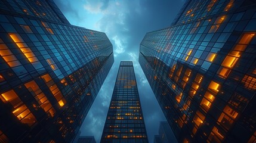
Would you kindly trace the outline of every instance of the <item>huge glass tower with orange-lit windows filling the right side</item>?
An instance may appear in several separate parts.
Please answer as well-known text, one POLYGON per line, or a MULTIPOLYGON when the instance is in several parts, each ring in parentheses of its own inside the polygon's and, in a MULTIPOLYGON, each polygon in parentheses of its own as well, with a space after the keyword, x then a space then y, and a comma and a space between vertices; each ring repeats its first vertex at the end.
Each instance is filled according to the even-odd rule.
POLYGON ((255 142, 256 2, 190 0, 139 63, 178 142, 255 142))

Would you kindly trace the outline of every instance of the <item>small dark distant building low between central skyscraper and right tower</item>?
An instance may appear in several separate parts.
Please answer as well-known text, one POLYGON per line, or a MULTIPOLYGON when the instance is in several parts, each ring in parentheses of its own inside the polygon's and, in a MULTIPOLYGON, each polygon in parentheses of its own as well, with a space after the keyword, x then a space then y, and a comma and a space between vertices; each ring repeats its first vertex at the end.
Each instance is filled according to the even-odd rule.
POLYGON ((162 121, 159 124, 159 135, 155 135, 154 142, 155 143, 177 143, 177 139, 175 138, 172 129, 170 128, 168 122, 162 121))

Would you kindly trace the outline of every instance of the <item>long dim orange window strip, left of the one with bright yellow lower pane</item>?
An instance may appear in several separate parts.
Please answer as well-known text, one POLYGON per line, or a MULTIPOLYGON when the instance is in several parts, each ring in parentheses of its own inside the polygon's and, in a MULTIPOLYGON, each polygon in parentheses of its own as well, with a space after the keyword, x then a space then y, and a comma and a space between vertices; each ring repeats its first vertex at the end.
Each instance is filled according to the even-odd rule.
POLYGON ((51 103, 48 101, 47 97, 45 97, 44 93, 38 87, 36 82, 32 80, 26 83, 25 86, 27 89, 29 89, 35 100, 38 101, 38 104, 41 106, 41 108, 43 108, 46 113, 49 113, 51 117, 53 117, 55 110, 51 103))

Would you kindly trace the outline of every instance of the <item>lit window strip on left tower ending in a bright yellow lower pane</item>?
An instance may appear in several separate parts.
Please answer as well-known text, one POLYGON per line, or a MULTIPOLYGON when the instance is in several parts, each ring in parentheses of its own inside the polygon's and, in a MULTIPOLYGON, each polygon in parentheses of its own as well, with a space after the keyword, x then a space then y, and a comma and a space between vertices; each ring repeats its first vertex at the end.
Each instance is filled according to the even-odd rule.
POLYGON ((58 89, 57 85, 55 85, 54 81, 51 79, 50 75, 45 74, 44 76, 41 76, 41 77, 42 79, 44 79, 51 93, 53 94, 55 99, 58 101, 58 104, 60 105, 60 107, 63 107, 63 105, 66 104, 66 100, 61 94, 60 89, 58 89))

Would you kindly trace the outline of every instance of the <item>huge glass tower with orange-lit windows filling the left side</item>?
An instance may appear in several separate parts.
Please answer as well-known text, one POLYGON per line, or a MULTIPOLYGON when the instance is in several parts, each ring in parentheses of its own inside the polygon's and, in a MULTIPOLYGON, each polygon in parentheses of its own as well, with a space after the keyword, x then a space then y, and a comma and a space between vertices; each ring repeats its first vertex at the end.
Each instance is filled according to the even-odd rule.
POLYGON ((113 64, 52 0, 0 1, 0 55, 0 142, 73 141, 113 64))

